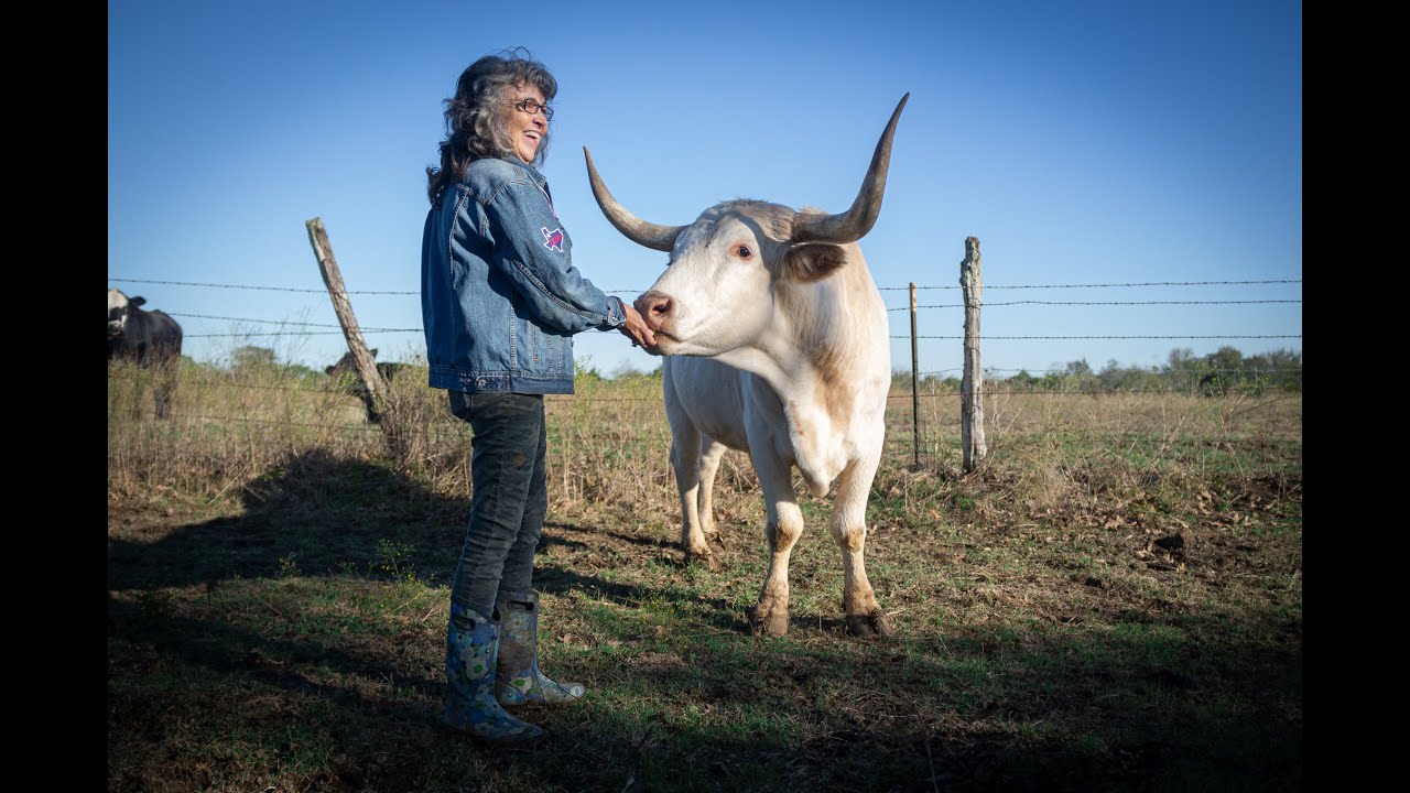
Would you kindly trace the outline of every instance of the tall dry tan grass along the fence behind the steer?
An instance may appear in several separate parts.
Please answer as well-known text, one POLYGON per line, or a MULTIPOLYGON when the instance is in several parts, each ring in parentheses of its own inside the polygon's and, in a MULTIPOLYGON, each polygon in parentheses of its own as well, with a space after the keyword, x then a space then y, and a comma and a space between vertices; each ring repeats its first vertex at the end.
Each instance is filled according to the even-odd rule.
MULTIPOLYGON (((355 396, 319 375, 188 364, 168 422, 149 420, 147 380, 135 367, 109 368, 111 497, 165 490, 217 497, 314 449, 350 460, 389 457, 446 495, 468 487, 468 428, 448 415, 444 392, 426 388, 417 370, 392 384, 385 432, 365 423, 355 396)), ((673 476, 663 464, 670 432, 660 381, 587 378, 575 396, 547 399, 556 507, 674 509, 673 476)), ((898 490, 909 500, 918 481, 935 491, 925 471, 938 477, 940 490, 964 490, 957 405, 953 392, 922 394, 922 466, 914 470, 909 395, 891 399, 880 491, 898 490)), ((977 483, 1000 481, 1005 500, 1018 495, 1028 508, 1090 495, 1091 477, 1083 471, 1101 471, 1101 488, 1121 491, 1142 490, 1152 480, 1286 474, 1290 463, 1300 477, 1300 394, 1001 394, 987 401, 987 418, 990 461, 977 483)), ((730 452, 721 468, 722 491, 756 484, 747 456, 730 452)))

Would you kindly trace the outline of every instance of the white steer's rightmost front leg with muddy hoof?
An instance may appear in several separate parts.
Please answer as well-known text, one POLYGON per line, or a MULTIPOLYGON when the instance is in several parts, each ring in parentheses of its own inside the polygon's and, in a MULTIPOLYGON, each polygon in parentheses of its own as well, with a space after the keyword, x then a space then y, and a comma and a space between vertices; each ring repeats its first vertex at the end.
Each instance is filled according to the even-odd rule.
POLYGON ((878 461, 876 457, 854 460, 842 471, 830 523, 832 539, 842 549, 842 610, 847 615, 847 631, 867 638, 891 632, 885 612, 867 581, 862 553, 867 542, 867 495, 871 492, 878 461))

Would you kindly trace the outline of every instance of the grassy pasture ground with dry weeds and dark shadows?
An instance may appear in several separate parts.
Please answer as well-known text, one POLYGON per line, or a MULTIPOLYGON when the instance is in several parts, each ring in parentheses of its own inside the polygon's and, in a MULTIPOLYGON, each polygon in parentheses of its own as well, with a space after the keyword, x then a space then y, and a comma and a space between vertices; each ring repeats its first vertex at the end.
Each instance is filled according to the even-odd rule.
POLYGON ((314 375, 186 364, 166 422, 109 368, 109 790, 1290 790, 1303 787, 1301 395, 1004 394, 959 473, 959 399, 897 391, 842 622, 829 501, 792 622, 747 634, 763 502, 721 468, 719 569, 682 567, 660 382, 550 399, 550 742, 436 728, 470 436, 314 375))

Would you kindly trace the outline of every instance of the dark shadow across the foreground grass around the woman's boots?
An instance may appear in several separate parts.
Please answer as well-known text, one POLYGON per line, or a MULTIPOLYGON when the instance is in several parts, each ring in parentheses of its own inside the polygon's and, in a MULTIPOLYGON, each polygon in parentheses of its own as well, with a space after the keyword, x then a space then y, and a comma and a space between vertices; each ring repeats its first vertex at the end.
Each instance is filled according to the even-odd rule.
POLYGON ((436 728, 468 501, 310 454, 245 505, 110 528, 110 790, 1301 787, 1300 622, 1276 610, 756 639, 725 598, 632 576, 668 543, 588 573, 611 555, 575 523, 537 586, 577 635, 546 666, 589 697, 523 713, 539 751, 484 748, 436 728))

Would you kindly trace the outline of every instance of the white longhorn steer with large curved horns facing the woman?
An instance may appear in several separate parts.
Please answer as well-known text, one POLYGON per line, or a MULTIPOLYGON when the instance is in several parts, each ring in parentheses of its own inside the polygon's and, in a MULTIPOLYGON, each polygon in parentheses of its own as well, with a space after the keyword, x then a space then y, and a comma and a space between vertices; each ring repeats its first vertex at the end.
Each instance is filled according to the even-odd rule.
POLYGON ((749 615, 756 634, 788 632, 788 556, 804 529, 792 466, 814 495, 838 483, 830 528, 842 549, 847 629, 891 632, 863 562, 891 354, 885 306, 856 241, 881 210, 891 138, 908 97, 843 214, 735 200, 689 226, 647 223, 612 198, 584 148, 608 220, 634 243, 671 254, 636 309, 656 332, 651 351, 668 356, 666 413, 687 562, 713 566, 711 491, 725 447, 749 452, 759 473, 771 556, 749 615))

